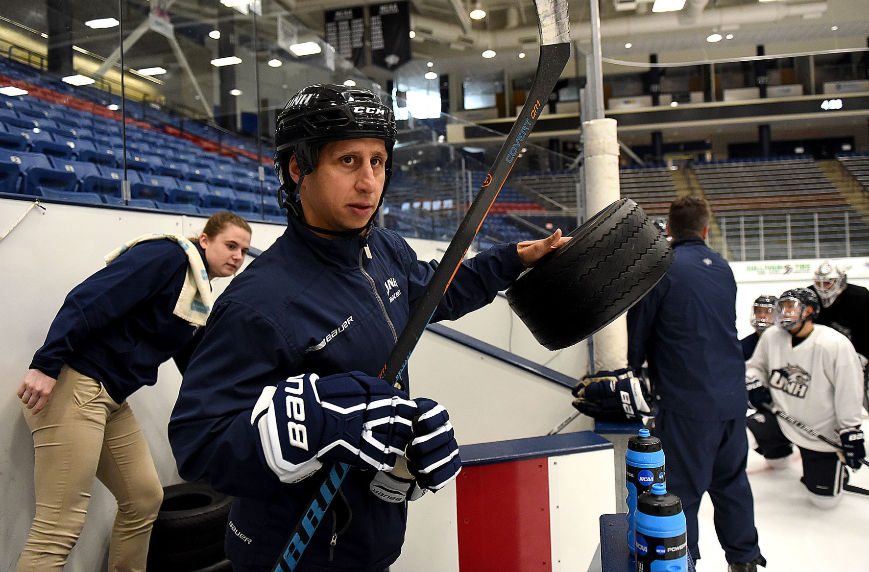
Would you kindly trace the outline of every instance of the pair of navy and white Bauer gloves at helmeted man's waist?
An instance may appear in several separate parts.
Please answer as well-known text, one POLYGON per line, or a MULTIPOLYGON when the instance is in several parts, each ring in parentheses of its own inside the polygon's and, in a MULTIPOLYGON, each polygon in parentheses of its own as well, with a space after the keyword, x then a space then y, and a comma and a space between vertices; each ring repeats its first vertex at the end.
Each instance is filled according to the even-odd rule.
POLYGON ((307 374, 267 386, 250 421, 259 430, 269 468, 282 482, 302 481, 323 462, 344 462, 378 471, 372 492, 404 502, 442 489, 461 470, 443 406, 425 397, 409 399, 359 371, 307 374), (413 478, 389 474, 403 456, 413 478))

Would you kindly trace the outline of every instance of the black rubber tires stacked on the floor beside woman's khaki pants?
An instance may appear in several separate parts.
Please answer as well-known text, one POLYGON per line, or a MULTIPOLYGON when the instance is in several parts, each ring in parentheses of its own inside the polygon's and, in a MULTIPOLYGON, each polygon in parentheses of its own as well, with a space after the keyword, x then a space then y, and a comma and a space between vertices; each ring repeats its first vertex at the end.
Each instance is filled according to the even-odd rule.
POLYGON ((163 504, 151 531, 148 569, 189 572, 221 562, 232 497, 204 482, 163 487, 163 504))

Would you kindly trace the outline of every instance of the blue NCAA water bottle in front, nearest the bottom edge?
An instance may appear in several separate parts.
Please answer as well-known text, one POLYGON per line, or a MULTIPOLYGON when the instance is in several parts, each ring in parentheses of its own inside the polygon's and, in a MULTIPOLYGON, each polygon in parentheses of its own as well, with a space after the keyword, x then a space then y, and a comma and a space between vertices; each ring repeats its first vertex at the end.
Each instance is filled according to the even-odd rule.
POLYGON ((685 513, 678 496, 656 482, 637 499, 637 572, 687 572, 685 513))

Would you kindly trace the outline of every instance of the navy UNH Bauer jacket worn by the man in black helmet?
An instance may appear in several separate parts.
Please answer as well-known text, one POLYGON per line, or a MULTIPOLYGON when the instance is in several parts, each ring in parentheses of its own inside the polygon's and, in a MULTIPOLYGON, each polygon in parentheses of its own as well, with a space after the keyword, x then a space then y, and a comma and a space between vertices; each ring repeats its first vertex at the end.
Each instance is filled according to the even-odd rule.
MULTIPOLYGON (((388 229, 328 240, 291 221, 217 300, 184 375, 169 442, 184 479, 205 478, 236 497, 227 530, 230 560, 274 564, 325 476, 321 469, 285 484, 269 469, 251 425, 263 387, 302 373, 379 375, 435 266, 418 261, 388 229)), ((490 303, 522 269, 515 243, 462 263, 433 321, 490 303)), ((323 517, 297 570, 381 572, 395 562, 407 507, 375 497, 368 489, 373 476, 350 471, 343 497, 323 517), (330 547, 333 534, 338 538, 330 547)))

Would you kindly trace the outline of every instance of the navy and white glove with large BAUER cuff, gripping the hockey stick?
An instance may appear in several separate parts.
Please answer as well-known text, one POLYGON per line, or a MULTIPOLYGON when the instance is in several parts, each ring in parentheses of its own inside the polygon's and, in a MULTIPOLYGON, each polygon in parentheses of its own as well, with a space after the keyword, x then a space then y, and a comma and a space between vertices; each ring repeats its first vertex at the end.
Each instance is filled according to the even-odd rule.
POLYGON ((416 409, 380 377, 306 374, 262 389, 250 423, 269 468, 282 482, 299 482, 323 461, 392 470, 412 436, 416 409))

